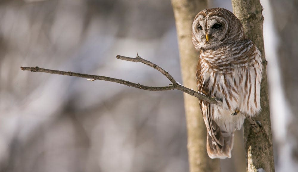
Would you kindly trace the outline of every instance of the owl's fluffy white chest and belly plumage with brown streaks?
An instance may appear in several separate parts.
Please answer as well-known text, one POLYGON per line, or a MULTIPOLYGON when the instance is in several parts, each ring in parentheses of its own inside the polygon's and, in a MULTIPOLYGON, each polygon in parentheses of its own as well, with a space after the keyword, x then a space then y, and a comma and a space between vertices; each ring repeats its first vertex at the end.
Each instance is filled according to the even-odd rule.
POLYGON ((224 110, 240 110, 251 116, 260 111, 262 61, 251 40, 202 51, 200 64, 199 91, 209 90, 209 95, 223 101, 221 107, 211 105, 214 119, 223 118, 224 110))

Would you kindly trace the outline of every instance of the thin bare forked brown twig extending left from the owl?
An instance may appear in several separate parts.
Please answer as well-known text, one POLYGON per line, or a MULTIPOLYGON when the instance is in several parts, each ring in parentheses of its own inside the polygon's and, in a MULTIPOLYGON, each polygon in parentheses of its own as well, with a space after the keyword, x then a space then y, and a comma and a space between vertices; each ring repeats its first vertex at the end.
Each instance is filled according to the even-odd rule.
POLYGON ((148 91, 180 90, 184 93, 187 93, 187 94, 190 94, 191 96, 195 96, 202 100, 208 101, 212 104, 219 104, 219 101, 216 100, 214 97, 208 97, 202 93, 198 93, 194 90, 191 90, 191 89, 179 84, 167 71, 165 71, 158 65, 156 65, 148 60, 142 59, 141 57, 139 57, 139 55, 137 55, 136 58, 124 57, 124 56, 117 55, 117 59, 126 60, 126 61, 130 61, 130 62, 142 62, 145 65, 148 65, 148 66, 158 70, 159 72, 161 72, 164 76, 167 77, 167 79, 170 80, 170 82, 172 82, 172 84, 170 86, 165 86, 165 87, 149 87, 149 86, 125 81, 122 79, 116 79, 116 78, 111 78, 111 77, 106 77, 106 76, 98 76, 98 75, 80 74, 80 73, 75 73, 75 72, 57 71, 57 70, 39 68, 37 66, 36 67, 21 67, 21 70, 31 71, 31 72, 45 72, 45 73, 49 73, 49 74, 58 74, 58 75, 67 75, 67 76, 77 76, 80 78, 87 78, 90 81, 94 81, 94 80, 110 81, 110 82, 116 82, 119 84, 127 85, 129 87, 135 87, 135 88, 139 88, 142 90, 148 90, 148 91))

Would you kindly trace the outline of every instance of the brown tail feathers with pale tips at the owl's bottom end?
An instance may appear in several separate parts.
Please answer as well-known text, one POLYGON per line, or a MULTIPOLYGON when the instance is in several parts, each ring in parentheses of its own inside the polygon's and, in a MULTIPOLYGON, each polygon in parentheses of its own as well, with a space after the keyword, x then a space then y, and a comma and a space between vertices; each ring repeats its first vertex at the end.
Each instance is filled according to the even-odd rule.
MULTIPOLYGON (((218 133, 221 135, 221 133, 218 133)), ((210 158, 226 159, 231 158, 231 150, 234 143, 234 132, 223 133, 220 137, 223 138, 223 143, 218 143, 212 137, 207 134, 207 153, 210 158)))

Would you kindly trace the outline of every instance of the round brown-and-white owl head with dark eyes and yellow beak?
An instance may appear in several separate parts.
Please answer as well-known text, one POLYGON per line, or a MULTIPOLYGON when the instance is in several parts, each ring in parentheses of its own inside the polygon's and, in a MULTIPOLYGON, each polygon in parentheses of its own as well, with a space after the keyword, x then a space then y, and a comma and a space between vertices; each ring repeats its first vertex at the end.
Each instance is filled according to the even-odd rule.
POLYGON ((239 19, 224 8, 200 11, 193 21, 192 32, 193 44, 198 50, 214 49, 245 38, 239 19))

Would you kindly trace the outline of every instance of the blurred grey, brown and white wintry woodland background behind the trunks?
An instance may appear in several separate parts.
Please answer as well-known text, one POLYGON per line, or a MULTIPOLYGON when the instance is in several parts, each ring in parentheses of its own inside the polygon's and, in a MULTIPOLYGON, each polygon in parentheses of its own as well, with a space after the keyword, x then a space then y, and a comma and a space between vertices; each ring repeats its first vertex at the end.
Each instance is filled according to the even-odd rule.
MULTIPOLYGON (((298 3, 261 0, 276 171, 298 168, 298 3)), ((231 1, 209 7, 232 11, 231 1)), ((193 46, 193 45, 190 45, 193 46)), ((21 71, 39 66, 129 80, 181 83, 170 0, 0 1, 0 171, 188 171, 180 91, 21 71)), ((243 131, 223 172, 245 171, 243 131)))

